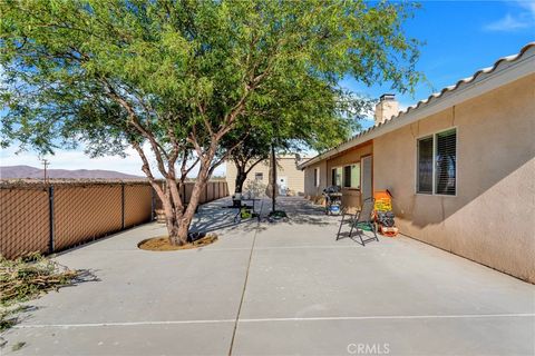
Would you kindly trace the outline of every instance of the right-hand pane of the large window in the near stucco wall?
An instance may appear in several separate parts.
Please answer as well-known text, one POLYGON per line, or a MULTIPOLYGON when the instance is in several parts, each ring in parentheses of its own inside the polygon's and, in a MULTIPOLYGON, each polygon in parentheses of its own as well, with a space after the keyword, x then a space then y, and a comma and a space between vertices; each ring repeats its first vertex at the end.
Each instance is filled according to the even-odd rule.
POLYGON ((455 129, 437 134, 435 157, 435 194, 455 196, 457 132, 455 129))

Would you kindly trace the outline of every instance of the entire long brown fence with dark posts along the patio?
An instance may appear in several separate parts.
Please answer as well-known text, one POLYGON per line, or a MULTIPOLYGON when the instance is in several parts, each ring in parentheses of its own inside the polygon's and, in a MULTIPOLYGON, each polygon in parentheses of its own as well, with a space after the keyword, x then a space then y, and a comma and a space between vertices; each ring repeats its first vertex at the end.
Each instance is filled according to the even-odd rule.
MULTIPOLYGON (((182 187, 189 201, 193 182, 182 187)), ((228 195, 211 181, 201 202, 228 195)), ((0 255, 51 254, 148 222, 160 206, 146 182, 58 182, 0 186, 0 255)))

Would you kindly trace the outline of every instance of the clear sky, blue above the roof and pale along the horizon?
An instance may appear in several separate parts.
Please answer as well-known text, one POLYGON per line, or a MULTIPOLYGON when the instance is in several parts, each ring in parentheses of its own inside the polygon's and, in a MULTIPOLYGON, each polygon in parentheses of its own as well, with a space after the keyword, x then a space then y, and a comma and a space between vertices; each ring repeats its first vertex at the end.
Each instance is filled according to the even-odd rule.
MULTIPOLYGON (((431 92, 471 76, 476 70, 492 66, 498 58, 514 55, 529 41, 535 41, 535 0, 531 1, 424 1, 421 9, 406 24, 409 37, 425 41, 418 70, 428 82, 416 88, 414 97, 397 95, 401 108, 427 98, 431 92)), ((391 92, 388 83, 367 88, 352 79, 344 87, 371 98, 391 92)), ((363 123, 369 127, 371 121, 363 123)), ((39 166, 31 152, 14 156, 17 148, 0 152, 0 165, 39 166)), ((130 157, 87 158, 81 150, 58 151, 48 157, 50 168, 113 169, 142 175, 140 161, 130 157)), ((224 174, 222 166, 216 174, 224 174)))

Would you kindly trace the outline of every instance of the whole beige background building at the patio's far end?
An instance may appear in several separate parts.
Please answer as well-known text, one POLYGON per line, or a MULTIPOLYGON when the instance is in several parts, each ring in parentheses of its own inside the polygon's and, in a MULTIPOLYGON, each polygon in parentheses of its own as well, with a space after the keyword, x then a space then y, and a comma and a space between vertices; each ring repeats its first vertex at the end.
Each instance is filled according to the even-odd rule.
MULTIPOLYGON (((304 174, 298 168, 303 159, 295 155, 281 155, 276 157, 276 184, 281 195, 300 195, 304 194, 304 174)), ((249 168, 249 167, 247 167, 249 168)), ((226 184, 228 191, 234 194, 236 187, 237 169, 232 160, 226 161, 226 184)), ((265 159, 255 165, 247 175, 247 179, 243 184, 243 191, 252 182, 268 187, 270 184, 270 159, 265 159)))

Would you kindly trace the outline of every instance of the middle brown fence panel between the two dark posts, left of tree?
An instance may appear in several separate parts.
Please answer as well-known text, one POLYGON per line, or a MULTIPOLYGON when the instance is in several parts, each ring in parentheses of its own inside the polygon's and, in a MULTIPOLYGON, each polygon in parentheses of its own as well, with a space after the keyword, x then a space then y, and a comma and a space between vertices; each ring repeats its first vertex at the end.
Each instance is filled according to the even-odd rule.
POLYGON ((55 187, 55 247, 65 249, 120 230, 120 185, 55 187))

